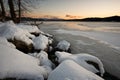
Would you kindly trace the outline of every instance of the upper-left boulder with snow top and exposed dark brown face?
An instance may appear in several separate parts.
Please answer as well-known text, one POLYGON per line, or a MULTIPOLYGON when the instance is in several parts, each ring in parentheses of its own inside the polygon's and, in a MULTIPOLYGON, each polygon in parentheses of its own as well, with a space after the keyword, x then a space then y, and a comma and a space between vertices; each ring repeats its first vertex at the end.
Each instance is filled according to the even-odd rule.
POLYGON ((17 27, 12 21, 3 23, 0 26, 0 36, 5 37, 14 43, 17 49, 24 52, 30 52, 32 50, 33 41, 30 38, 35 37, 27 30, 17 27))

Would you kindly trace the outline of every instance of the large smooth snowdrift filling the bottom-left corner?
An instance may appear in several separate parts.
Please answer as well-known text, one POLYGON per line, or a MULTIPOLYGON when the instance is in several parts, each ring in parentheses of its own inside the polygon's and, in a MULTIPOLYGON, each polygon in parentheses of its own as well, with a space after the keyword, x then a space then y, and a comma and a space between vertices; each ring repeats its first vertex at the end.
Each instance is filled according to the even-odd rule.
POLYGON ((39 64, 37 58, 0 44, 0 79, 10 77, 44 80, 50 69, 48 66, 39 66, 39 64))

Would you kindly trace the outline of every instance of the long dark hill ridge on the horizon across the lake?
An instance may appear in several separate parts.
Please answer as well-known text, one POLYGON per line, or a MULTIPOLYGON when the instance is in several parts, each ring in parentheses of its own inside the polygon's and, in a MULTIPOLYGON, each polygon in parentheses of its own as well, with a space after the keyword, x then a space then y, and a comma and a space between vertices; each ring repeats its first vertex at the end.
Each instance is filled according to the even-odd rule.
POLYGON ((29 18, 29 17, 23 17, 22 20, 27 21, 101 21, 101 22, 120 22, 120 16, 110 16, 110 17, 91 17, 91 18, 83 18, 83 19, 59 19, 59 18, 29 18))

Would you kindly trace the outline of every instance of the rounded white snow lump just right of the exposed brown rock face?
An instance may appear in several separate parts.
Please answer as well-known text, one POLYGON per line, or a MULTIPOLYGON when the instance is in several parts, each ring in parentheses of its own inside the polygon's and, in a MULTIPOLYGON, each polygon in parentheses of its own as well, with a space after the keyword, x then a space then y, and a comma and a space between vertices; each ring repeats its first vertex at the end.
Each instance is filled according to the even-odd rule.
POLYGON ((48 46, 48 37, 40 34, 38 37, 33 39, 34 48, 37 50, 45 50, 48 46))

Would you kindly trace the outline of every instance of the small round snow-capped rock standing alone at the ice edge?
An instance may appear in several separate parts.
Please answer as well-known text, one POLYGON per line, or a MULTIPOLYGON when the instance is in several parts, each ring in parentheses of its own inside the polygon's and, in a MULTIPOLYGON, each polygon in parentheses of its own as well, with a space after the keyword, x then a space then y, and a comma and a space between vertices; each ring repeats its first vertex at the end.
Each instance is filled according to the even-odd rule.
POLYGON ((66 40, 62 40, 57 44, 56 48, 61 51, 68 51, 70 48, 70 43, 66 40))

